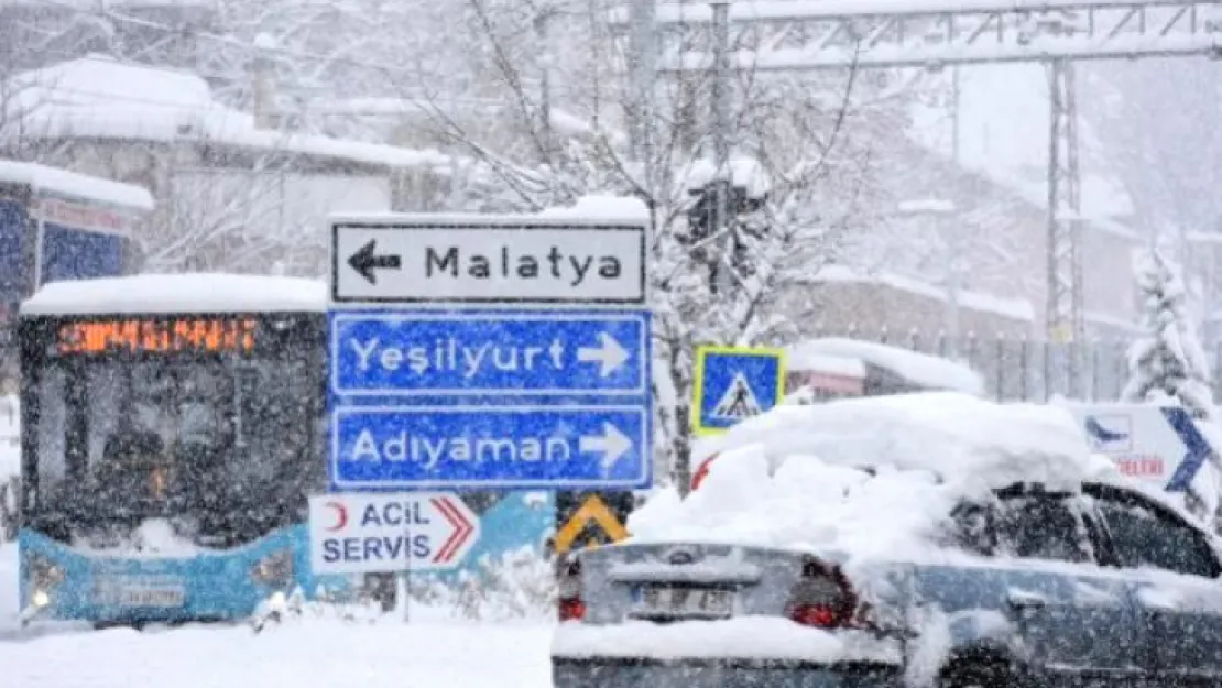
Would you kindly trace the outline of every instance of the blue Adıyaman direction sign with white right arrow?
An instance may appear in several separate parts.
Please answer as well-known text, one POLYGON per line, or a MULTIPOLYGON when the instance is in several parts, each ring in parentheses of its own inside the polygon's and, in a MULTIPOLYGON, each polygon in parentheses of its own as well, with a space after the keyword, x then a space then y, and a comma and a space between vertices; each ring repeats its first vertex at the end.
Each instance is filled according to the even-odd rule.
POLYGON ((650 420, 644 404, 341 407, 331 483, 363 491, 644 488, 650 420))

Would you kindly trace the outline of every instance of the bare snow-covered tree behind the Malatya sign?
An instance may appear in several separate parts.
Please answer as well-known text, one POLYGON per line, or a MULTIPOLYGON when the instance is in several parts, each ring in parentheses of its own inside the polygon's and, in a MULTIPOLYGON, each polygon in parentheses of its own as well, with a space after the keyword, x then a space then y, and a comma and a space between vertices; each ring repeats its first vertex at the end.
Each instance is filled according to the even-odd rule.
POLYGON ((666 461, 656 473, 683 481, 695 346, 785 345, 811 334, 804 328, 816 323, 809 317, 813 277, 837 259, 846 236, 873 230, 882 208, 874 203, 880 152, 903 131, 907 94, 877 72, 737 75, 727 172, 745 198, 731 221, 710 226, 698 210, 715 172, 711 75, 660 79, 651 145, 633 156, 623 133, 631 103, 622 75, 609 66, 617 49, 600 38, 596 21, 571 12, 554 27, 572 48, 562 64, 551 64, 547 77, 557 88, 544 101, 532 20, 538 12, 497 2, 503 0, 469 0, 472 15, 485 22, 474 24, 484 45, 472 54, 490 60, 490 88, 511 104, 524 136, 481 138, 441 109, 439 128, 491 172, 480 196, 497 205, 480 209, 536 211, 590 193, 645 202, 656 455, 666 461), (561 106, 588 122, 587 136, 549 137, 555 132, 546 131, 544 112, 561 106))

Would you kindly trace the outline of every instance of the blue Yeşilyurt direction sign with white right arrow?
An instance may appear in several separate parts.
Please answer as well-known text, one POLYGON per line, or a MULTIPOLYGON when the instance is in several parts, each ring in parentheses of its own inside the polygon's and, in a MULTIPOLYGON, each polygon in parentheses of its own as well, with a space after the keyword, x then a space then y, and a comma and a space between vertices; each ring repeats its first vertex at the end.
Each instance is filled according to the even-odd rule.
POLYGON ((332 313, 341 396, 648 396, 649 313, 332 313))

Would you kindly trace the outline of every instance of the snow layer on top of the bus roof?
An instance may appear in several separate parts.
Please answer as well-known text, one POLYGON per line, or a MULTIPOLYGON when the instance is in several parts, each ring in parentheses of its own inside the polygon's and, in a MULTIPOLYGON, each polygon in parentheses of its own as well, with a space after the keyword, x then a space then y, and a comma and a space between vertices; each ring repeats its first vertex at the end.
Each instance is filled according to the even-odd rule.
POLYGON ((302 277, 188 273, 51 282, 22 315, 323 312, 326 284, 302 277))

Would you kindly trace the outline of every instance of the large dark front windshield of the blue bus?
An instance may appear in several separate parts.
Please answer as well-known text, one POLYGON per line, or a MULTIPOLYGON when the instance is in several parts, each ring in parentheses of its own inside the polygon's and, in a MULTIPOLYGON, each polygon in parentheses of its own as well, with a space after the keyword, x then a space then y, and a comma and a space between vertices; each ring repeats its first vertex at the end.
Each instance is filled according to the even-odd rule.
POLYGON ((280 354, 48 360, 31 390, 31 525, 106 547, 163 518, 194 544, 233 546, 302 521, 325 480, 321 347, 292 343, 280 354))

